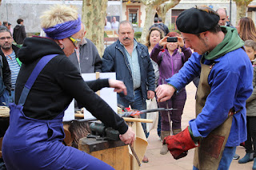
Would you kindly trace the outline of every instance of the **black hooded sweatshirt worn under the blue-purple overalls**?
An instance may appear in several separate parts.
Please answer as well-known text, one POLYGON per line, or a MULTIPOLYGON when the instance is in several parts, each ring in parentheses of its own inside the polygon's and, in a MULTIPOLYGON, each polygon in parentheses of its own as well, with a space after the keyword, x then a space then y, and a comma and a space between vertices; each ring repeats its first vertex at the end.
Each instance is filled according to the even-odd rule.
POLYGON ((126 122, 94 93, 109 86, 108 80, 83 81, 77 67, 50 38, 26 38, 19 50, 18 57, 22 61, 22 67, 16 81, 15 103, 18 103, 22 89, 35 65, 48 54, 58 54, 58 56, 42 69, 30 89, 23 107, 26 117, 54 119, 74 98, 106 126, 118 129, 121 134, 125 133, 128 129, 126 122))

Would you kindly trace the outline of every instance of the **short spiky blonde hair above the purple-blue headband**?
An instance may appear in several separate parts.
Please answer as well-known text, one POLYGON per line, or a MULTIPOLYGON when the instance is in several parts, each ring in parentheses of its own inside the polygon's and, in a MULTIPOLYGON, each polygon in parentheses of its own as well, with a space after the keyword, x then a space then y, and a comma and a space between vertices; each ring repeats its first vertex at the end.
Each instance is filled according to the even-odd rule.
POLYGON ((75 6, 54 5, 41 15, 42 28, 50 28, 68 21, 78 19, 78 10, 75 6))

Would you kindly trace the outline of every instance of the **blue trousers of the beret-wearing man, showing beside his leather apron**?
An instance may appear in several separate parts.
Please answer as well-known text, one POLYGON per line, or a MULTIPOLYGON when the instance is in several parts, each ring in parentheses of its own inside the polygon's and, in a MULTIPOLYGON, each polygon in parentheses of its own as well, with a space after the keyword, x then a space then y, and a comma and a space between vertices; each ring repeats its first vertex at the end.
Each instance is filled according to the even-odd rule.
MULTIPOLYGON (((218 165, 218 170, 227 170, 230 168, 230 164, 233 160, 234 153, 235 153, 236 147, 225 147, 223 154, 222 154, 222 160, 220 161, 218 165)), ((193 166, 193 170, 198 170, 198 168, 195 168, 193 166)))

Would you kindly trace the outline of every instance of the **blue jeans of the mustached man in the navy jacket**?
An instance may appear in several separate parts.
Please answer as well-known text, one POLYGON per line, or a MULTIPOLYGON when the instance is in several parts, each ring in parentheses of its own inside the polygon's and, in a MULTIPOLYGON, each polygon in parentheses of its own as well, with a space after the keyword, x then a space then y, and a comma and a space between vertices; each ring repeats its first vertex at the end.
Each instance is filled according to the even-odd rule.
MULTIPOLYGON (((131 109, 146 109, 146 101, 142 97, 141 89, 134 90, 134 102, 127 101, 125 98, 120 97, 118 95, 118 104, 123 105, 126 108, 128 108, 130 105, 131 109)), ((146 114, 141 114, 140 116, 142 119, 146 119, 146 114)), ((144 130, 146 137, 148 137, 148 133, 146 132, 146 123, 142 123, 142 128, 144 130)))

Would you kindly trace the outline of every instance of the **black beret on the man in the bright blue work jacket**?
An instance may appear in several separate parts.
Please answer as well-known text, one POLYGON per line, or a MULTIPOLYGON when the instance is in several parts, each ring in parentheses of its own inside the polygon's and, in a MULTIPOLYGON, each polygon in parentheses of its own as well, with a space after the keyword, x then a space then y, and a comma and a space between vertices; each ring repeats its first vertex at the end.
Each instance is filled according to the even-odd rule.
POLYGON ((218 25, 218 14, 209 7, 198 7, 184 10, 178 15, 176 26, 187 34, 199 34, 218 25))

